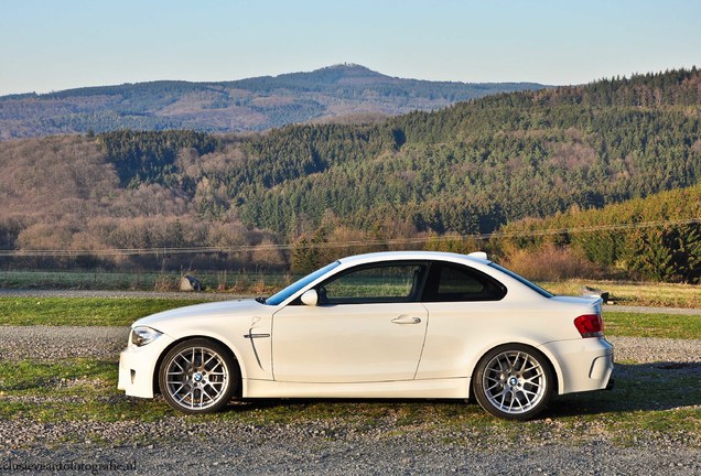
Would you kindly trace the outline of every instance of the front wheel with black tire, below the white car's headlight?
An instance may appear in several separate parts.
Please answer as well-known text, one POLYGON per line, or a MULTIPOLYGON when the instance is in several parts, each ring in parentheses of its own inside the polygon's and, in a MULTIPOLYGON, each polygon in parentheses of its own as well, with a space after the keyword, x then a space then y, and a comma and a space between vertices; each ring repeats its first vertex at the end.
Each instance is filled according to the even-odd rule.
POLYGON ((223 409, 238 381, 238 367, 228 349, 205 338, 177 344, 159 369, 159 386, 168 404, 191 414, 223 409))

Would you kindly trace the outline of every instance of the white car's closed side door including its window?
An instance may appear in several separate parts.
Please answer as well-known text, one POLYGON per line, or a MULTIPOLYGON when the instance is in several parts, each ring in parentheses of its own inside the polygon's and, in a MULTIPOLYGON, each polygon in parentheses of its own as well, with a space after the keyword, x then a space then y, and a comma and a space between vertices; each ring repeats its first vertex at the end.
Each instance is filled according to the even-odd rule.
POLYGON ((316 286, 315 306, 293 302, 273 316, 273 376, 290 382, 410 380, 428 324, 418 302, 422 262, 360 266, 316 286))

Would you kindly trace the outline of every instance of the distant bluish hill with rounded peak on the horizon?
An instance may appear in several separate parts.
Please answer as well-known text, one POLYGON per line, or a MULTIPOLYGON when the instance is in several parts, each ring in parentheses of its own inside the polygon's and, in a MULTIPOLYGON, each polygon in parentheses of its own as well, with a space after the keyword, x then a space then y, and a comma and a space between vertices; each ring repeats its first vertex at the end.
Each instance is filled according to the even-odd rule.
POLYGON ((357 122, 542 87, 402 79, 359 65, 235 82, 86 87, 0 97, 0 139, 127 128, 230 132, 310 120, 357 122))

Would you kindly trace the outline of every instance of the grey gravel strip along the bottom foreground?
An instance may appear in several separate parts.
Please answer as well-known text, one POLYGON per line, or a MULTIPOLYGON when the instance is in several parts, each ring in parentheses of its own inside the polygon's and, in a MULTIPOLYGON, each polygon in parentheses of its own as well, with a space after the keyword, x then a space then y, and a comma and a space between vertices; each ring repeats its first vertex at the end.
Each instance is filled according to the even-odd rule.
MULTIPOLYGON (((180 424, 159 423, 173 435, 180 424)), ((121 465, 133 474, 231 475, 699 475, 701 452, 679 451, 673 442, 615 447, 610 443, 474 448, 444 443, 434 435, 386 437, 381 434, 328 439, 310 429, 211 428, 198 439, 145 446, 34 447, 7 452, 7 464, 121 465), (134 468, 134 469, 132 469, 134 468)), ((131 432, 131 426, 122 431, 131 432)), ((170 436, 169 436, 170 439, 170 436)), ((107 472, 107 469, 106 469, 107 472)), ((37 472, 32 472, 37 473, 37 472)), ((62 472, 63 473, 63 472, 62 472)), ((66 472, 89 474, 89 469, 66 472)), ((95 472, 93 474, 99 474, 95 472)))

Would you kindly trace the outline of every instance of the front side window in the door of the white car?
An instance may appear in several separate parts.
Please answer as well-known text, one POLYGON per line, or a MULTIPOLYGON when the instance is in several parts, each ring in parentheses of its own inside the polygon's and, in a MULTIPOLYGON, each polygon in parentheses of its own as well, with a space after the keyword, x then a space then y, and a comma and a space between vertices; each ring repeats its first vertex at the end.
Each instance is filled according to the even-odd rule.
POLYGON ((320 304, 360 304, 416 301, 427 266, 390 263, 355 268, 322 284, 320 304))

